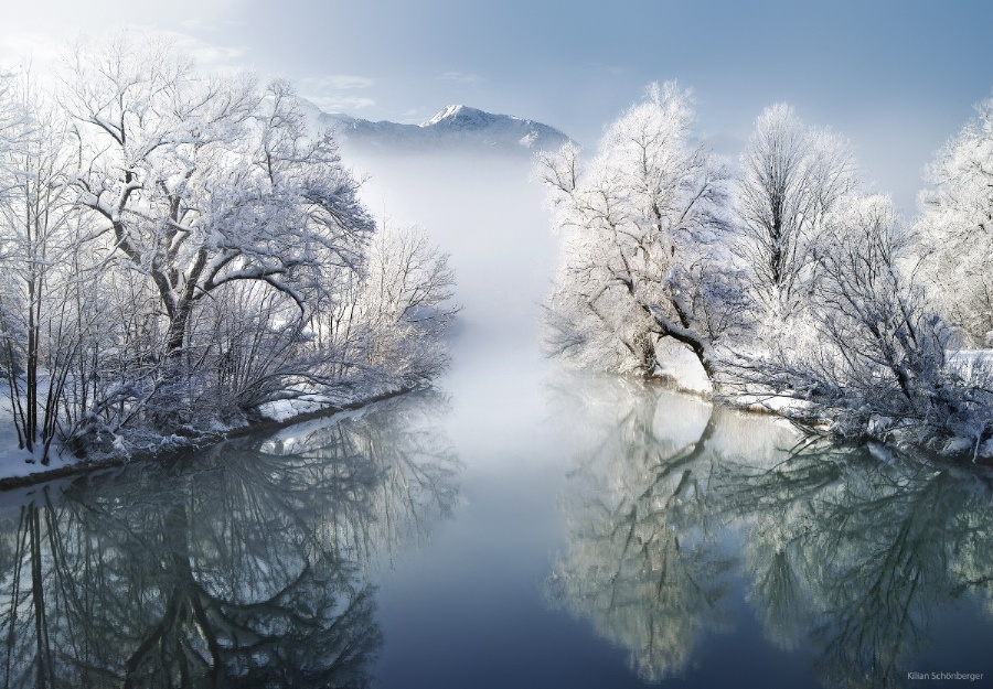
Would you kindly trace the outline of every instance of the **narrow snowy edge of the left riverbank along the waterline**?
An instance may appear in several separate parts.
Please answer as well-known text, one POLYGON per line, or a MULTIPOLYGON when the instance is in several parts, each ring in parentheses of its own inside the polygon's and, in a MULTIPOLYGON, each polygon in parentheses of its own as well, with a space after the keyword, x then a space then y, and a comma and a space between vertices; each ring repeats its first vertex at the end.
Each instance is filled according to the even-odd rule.
MULTIPOLYGON (((292 416, 279 419, 264 419, 256 423, 249 423, 223 432, 200 435, 195 439, 179 439, 177 440, 178 443, 182 443, 183 440, 188 440, 188 442, 184 444, 180 444, 179 446, 174 445, 168 452, 132 453, 100 457, 96 460, 74 459, 68 454, 67 451, 64 455, 60 455, 56 452, 53 453, 53 464, 55 465, 49 464, 46 466, 43 464, 38 464, 33 460, 21 460, 20 457, 23 454, 23 451, 17 449, 15 440, 13 440, 9 445, 13 448, 12 450, 0 450, 0 455, 2 455, 0 456, 0 466, 2 466, 4 472, 7 472, 6 475, 0 475, 0 491, 23 488, 40 483, 54 481, 56 478, 65 478, 68 476, 82 475, 104 469, 122 466, 131 462, 145 462, 152 460, 169 461, 189 454, 191 452, 209 448, 216 443, 224 442, 225 440, 229 440, 232 438, 243 438, 245 435, 252 435, 255 433, 276 432, 280 429, 288 428, 297 423, 302 423, 305 421, 332 417, 344 411, 361 409, 362 407, 367 407, 369 405, 373 405, 385 399, 405 395, 416 389, 420 388, 402 387, 387 392, 382 392, 380 395, 365 397, 353 402, 328 406, 312 411, 293 413, 292 416), (21 464, 23 464, 23 466, 21 466, 21 464), (21 471, 14 473, 11 470, 21 471)), ((15 438, 13 434, 11 434, 11 437, 12 439, 15 438)), ((0 442, 3 442, 6 440, 7 433, 0 435, 0 442)), ((4 443, 3 446, 8 446, 7 443, 4 443)))

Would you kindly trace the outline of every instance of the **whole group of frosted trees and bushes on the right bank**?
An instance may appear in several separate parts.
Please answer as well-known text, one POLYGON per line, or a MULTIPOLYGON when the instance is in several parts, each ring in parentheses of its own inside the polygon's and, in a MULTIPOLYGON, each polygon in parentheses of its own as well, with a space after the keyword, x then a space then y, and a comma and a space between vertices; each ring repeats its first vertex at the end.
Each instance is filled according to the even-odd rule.
MULTIPOLYGON (((562 235, 548 348, 686 379, 811 432, 993 456, 993 100, 939 152, 916 223, 864 191, 844 138, 777 104, 736 169, 653 85, 586 158, 537 155, 562 235), (690 372, 688 376, 700 377, 690 372)), ((691 386, 693 387, 693 386, 691 386)))

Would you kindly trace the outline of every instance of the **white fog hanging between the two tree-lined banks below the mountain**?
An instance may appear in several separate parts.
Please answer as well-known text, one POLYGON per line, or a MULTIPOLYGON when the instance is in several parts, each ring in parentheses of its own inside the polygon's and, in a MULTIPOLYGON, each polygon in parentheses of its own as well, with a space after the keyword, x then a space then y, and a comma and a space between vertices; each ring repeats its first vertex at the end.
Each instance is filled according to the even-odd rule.
POLYGON ((557 255, 526 157, 365 155, 362 197, 387 223, 423 225, 457 271, 463 334, 534 344, 557 255))

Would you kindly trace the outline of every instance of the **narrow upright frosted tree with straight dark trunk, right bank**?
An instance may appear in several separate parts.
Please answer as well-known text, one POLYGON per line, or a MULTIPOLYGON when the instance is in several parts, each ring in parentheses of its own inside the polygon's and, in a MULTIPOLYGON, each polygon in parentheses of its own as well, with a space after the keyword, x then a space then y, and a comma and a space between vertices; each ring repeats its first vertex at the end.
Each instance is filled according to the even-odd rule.
POLYGON ((807 127, 782 103, 756 119, 737 185, 737 252, 762 315, 789 316, 808 298, 818 235, 854 189, 854 157, 841 137, 807 127))

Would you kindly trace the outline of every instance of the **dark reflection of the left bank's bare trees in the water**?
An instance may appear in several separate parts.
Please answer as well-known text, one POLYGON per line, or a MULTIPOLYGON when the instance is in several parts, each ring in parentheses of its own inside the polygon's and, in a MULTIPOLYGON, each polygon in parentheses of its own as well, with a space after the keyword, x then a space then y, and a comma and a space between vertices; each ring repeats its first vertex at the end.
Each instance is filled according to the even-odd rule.
POLYGON ((367 686, 364 569, 456 499, 417 403, 45 488, 0 520, 2 686, 367 686))

